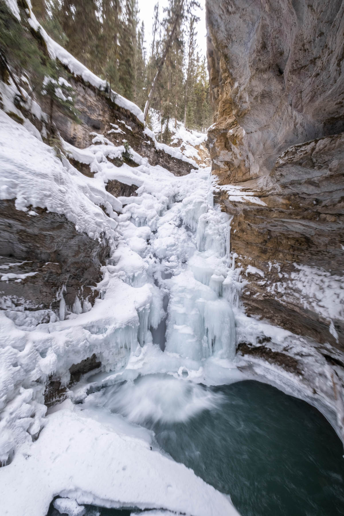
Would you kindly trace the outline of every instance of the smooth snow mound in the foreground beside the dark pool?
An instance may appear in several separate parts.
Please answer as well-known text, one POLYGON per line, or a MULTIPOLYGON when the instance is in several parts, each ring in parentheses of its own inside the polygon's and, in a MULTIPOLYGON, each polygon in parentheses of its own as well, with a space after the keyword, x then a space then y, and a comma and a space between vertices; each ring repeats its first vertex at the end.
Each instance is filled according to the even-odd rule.
POLYGON ((76 503, 166 508, 195 516, 238 514, 229 497, 186 466, 123 433, 116 417, 101 423, 78 406, 46 418, 38 441, 0 469, 0 486, 2 514, 8 516, 46 514, 56 494, 70 498, 75 515, 81 514, 76 503))

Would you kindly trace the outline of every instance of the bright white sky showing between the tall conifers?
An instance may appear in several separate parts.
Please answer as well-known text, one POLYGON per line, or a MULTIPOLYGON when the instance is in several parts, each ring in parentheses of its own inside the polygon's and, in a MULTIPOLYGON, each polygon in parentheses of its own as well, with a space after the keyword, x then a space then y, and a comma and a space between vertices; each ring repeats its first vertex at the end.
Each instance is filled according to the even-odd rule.
MULTIPOLYGON (((144 22, 144 38, 146 41, 146 49, 147 53, 150 53, 150 47, 152 45, 153 40, 153 16, 154 16, 154 6, 158 0, 138 0, 140 14, 139 17, 144 22)), ((160 11, 160 19, 162 17, 162 7, 165 7, 168 4, 168 0, 159 0, 159 11, 160 11)), ((201 20, 197 24, 197 43, 198 50, 201 54, 205 56, 206 54, 206 28, 205 28, 205 0, 200 0, 200 4, 202 10, 199 10, 196 14, 201 18, 201 20)))

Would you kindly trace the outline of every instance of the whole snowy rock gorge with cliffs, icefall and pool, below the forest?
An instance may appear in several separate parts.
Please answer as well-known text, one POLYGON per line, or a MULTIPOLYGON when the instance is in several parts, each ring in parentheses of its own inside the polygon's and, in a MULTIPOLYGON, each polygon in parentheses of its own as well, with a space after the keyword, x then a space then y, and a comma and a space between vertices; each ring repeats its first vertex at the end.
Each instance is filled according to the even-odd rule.
POLYGON ((2 513, 340 514, 344 3, 206 0, 169 144, 4 4, 78 120, 0 60, 2 513))

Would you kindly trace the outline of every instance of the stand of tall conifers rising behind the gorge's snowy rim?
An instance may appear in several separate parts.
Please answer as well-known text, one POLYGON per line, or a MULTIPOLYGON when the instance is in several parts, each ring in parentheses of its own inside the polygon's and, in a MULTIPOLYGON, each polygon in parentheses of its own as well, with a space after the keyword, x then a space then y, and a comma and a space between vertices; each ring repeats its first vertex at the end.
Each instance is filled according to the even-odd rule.
POLYGON ((162 16, 158 3, 152 6, 148 59, 137 0, 31 1, 53 38, 147 117, 149 98, 161 115, 161 140, 170 141, 171 120, 200 131, 211 124, 206 61, 196 48, 197 0, 168 0, 162 16))

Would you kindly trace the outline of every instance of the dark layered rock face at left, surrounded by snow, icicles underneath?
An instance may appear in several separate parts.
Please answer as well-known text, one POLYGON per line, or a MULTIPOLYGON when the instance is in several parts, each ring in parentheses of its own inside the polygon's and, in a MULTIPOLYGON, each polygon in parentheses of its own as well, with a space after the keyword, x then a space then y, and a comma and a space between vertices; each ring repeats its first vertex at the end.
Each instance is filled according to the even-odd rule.
POLYGON ((34 211, 36 216, 19 211, 12 200, 0 203, 0 302, 19 326, 55 320, 62 295, 69 310, 81 312, 85 302, 90 308, 99 295, 91 287, 101 280, 109 254, 105 238, 77 232, 62 214, 34 211))

